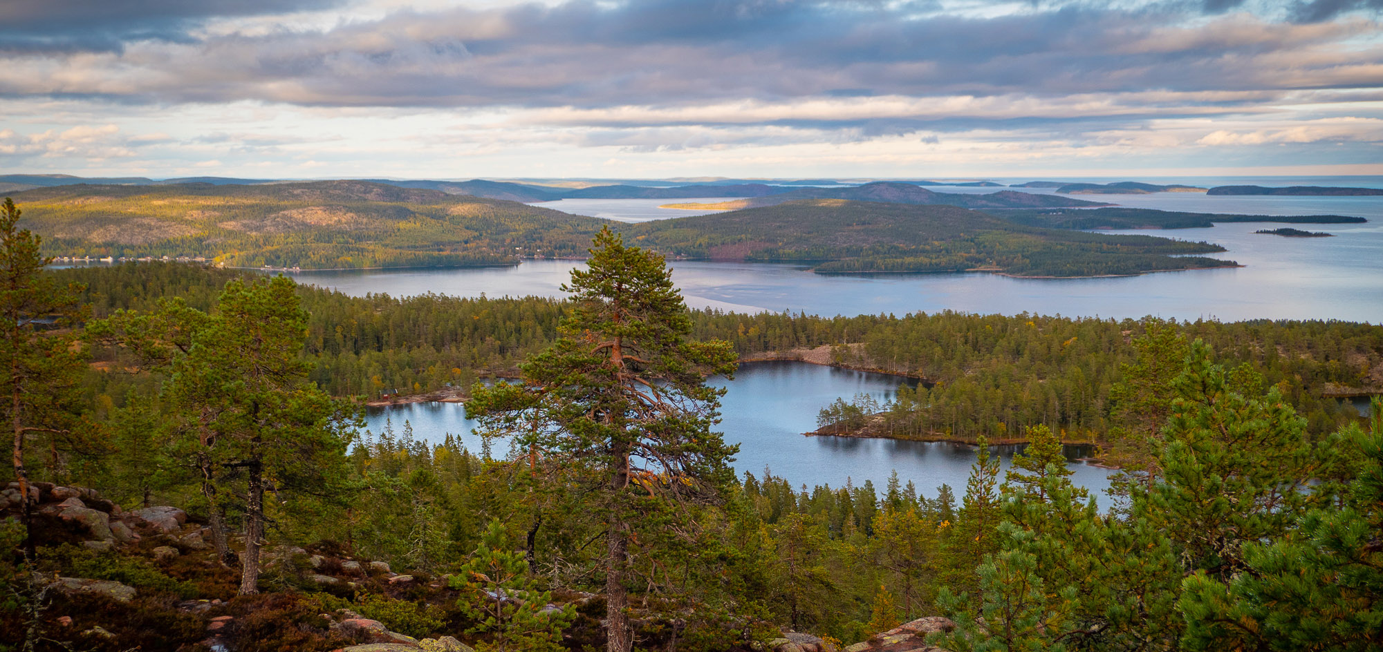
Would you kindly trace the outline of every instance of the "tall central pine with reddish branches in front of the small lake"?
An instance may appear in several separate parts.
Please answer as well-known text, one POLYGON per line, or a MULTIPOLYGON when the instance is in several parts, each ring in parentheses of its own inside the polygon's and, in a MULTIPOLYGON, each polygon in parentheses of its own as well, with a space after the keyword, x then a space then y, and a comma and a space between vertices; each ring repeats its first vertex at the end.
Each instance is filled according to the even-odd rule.
POLYGON ((625 582, 640 514, 715 500, 734 479, 736 449, 711 431, 723 390, 704 378, 733 373, 736 355, 725 341, 687 340, 692 320, 661 256, 607 228, 586 264, 563 286, 574 308, 560 340, 521 365, 523 385, 477 387, 466 410, 549 463, 599 477, 591 507, 606 519, 609 649, 629 652, 625 582))

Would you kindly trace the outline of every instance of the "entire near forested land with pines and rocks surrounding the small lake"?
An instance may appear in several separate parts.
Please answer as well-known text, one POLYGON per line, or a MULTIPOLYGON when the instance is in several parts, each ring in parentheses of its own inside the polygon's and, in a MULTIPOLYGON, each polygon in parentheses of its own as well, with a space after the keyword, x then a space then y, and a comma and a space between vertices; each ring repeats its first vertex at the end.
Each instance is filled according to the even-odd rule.
POLYGON ((610 229, 571 300, 354 298, 201 265, 50 272, 18 218, 7 203, 0 642, 18 649, 1380 635, 1383 403, 1361 423, 1322 398, 1383 383, 1379 326, 689 311, 664 257, 610 229), (705 377, 822 344, 929 378, 889 409, 974 438, 967 486, 736 478, 705 377), (510 367, 466 405, 508 453, 357 432, 386 378, 510 367), (1070 483, 1076 431, 1124 468, 1112 511, 1070 483), (990 437, 1029 442, 1007 474, 990 437))

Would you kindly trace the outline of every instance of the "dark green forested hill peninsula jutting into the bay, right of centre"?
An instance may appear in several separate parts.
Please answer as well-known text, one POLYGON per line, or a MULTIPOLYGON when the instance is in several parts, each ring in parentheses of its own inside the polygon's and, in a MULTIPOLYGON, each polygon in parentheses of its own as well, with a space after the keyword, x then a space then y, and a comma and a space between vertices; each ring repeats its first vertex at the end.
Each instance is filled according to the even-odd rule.
POLYGON ((1207 243, 1043 229, 954 206, 817 199, 631 225, 640 245, 693 258, 809 261, 819 272, 1091 276, 1235 265, 1207 243))

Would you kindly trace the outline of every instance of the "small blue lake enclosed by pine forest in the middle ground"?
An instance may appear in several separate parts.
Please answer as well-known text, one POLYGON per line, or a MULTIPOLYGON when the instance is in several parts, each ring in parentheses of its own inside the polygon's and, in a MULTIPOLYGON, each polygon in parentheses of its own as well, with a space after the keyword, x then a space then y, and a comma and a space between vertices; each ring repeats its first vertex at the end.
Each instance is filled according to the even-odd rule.
MULTIPOLYGON (((711 384, 726 387, 722 399, 722 423, 727 443, 739 443, 734 468, 762 477, 768 468, 773 475, 787 478, 794 485, 844 486, 846 479, 856 486, 866 479, 882 492, 889 474, 898 471, 899 481, 913 481, 918 492, 935 496, 936 488, 947 483, 965 492, 965 479, 975 461, 975 448, 956 443, 904 442, 892 439, 855 439, 845 437, 804 437, 816 430, 816 413, 837 398, 849 399, 869 394, 878 401, 892 398, 899 383, 896 376, 853 372, 805 362, 754 362, 743 365, 734 380, 711 378, 711 384)), ((380 432, 391 420, 396 432, 404 421, 414 428, 414 437, 441 441, 447 432, 461 435, 472 452, 481 450, 481 438, 472 434, 473 421, 466 419, 461 403, 408 403, 372 409, 368 430, 380 432)), ((508 453, 508 442, 492 443, 492 454, 508 453)), ((996 448, 1004 468, 1014 446, 996 448)), ((1069 449, 1077 456, 1075 448, 1069 449)), ((1102 493, 1109 486, 1109 471, 1072 461, 1076 483, 1102 493)))

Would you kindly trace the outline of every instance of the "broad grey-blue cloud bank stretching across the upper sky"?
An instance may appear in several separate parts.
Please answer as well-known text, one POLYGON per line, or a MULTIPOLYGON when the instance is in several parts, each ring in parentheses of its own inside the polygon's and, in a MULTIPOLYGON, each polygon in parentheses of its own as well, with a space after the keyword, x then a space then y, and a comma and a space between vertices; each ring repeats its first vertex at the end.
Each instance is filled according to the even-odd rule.
POLYGON ((1377 22, 1289 23, 1247 12, 1206 22, 1166 7, 993 17, 824 0, 408 10, 328 28, 140 40, 119 51, 11 52, 0 58, 0 93, 592 109, 1383 83, 1383 52, 1350 44, 1377 33, 1377 22))

